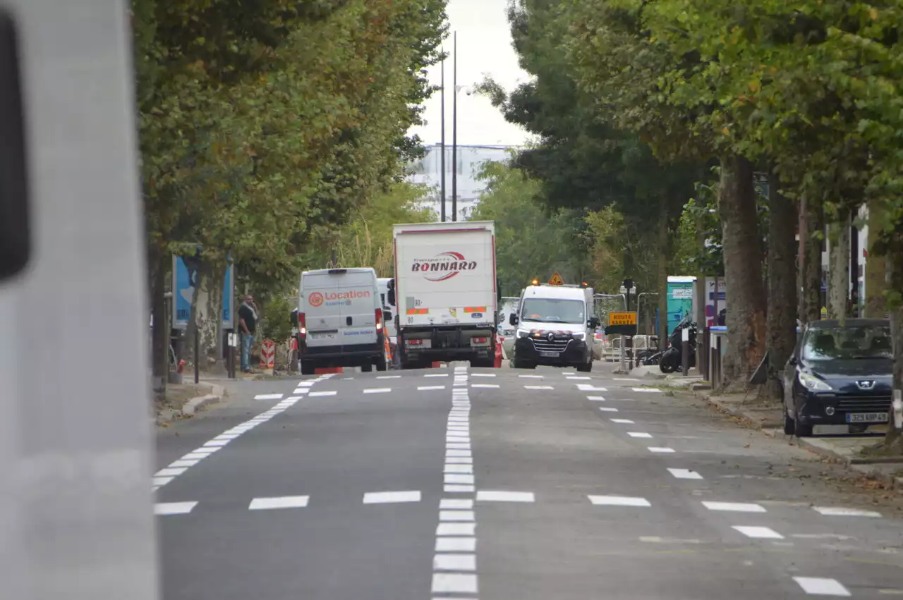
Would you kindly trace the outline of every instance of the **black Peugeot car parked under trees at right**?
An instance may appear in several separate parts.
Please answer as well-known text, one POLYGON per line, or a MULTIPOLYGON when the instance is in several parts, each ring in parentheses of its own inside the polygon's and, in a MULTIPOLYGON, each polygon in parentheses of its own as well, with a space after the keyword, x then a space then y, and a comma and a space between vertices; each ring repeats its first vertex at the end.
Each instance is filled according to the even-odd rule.
POLYGON ((784 432, 805 437, 815 425, 859 432, 886 423, 892 374, 888 319, 808 323, 784 367, 784 432))

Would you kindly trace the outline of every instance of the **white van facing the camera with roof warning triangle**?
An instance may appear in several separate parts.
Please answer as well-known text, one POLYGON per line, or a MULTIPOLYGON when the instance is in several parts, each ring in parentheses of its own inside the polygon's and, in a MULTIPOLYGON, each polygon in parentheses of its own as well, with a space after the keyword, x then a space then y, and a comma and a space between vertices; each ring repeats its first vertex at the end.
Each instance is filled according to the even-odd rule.
POLYGON ((579 285, 531 285, 508 321, 517 327, 513 366, 573 366, 592 370, 595 317, 592 288, 579 285))

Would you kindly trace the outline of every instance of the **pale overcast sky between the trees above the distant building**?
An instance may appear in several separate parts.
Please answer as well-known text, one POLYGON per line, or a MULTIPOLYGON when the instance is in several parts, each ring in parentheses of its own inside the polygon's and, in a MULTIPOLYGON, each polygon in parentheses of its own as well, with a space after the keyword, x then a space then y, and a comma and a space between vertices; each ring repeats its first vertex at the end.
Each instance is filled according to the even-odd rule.
MULTIPOLYGON (((517 54, 511 47, 507 23, 508 0, 449 0, 450 31, 445 50, 452 54, 452 32, 458 32, 458 143, 520 145, 528 134, 502 118, 486 97, 468 96, 466 87, 489 74, 507 91, 528 78, 517 65, 517 54)), ((452 57, 445 60, 445 143, 452 144, 452 57)), ((430 69, 430 81, 439 85, 442 70, 430 69)), ((414 127, 427 145, 439 143, 442 136, 442 109, 439 92, 425 104, 426 124, 414 127)))

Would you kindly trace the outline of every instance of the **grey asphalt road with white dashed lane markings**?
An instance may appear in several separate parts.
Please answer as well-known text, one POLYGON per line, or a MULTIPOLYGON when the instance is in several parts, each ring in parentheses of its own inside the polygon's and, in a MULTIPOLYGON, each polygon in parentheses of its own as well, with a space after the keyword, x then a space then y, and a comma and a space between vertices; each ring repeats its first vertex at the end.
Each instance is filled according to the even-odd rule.
POLYGON ((246 383, 158 468, 166 600, 903 598, 898 508, 607 373, 246 383))

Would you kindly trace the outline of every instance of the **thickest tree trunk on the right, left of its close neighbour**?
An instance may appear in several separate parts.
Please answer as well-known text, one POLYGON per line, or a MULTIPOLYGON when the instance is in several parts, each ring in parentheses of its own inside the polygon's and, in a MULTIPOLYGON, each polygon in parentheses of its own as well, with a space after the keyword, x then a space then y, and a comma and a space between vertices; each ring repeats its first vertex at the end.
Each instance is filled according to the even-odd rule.
POLYGON ((752 165, 740 156, 721 159, 718 186, 724 278, 731 291, 724 384, 745 389, 765 355, 765 290, 752 165))

